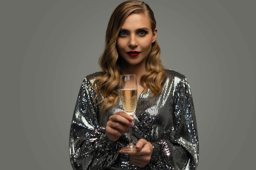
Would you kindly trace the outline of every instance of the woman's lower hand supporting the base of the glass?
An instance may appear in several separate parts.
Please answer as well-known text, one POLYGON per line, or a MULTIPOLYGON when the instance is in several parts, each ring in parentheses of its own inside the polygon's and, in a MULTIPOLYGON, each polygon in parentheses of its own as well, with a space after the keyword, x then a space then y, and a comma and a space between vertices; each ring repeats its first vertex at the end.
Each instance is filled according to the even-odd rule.
POLYGON ((136 144, 136 147, 140 148, 141 150, 119 150, 119 153, 130 155, 130 163, 138 167, 145 167, 146 164, 151 159, 151 155, 153 153, 153 146, 150 142, 146 141, 145 139, 139 139, 139 141, 136 144))

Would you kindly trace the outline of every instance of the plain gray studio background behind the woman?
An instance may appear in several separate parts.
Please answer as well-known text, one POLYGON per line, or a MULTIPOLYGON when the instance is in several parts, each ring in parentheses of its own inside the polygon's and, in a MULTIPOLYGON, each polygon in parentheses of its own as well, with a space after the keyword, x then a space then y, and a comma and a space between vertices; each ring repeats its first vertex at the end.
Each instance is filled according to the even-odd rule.
MULTIPOLYGON (((99 71, 120 0, 1 0, 0 169, 71 170, 69 130, 83 78, 99 71)), ((253 0, 145 0, 167 68, 195 104, 198 170, 255 165, 253 0)))

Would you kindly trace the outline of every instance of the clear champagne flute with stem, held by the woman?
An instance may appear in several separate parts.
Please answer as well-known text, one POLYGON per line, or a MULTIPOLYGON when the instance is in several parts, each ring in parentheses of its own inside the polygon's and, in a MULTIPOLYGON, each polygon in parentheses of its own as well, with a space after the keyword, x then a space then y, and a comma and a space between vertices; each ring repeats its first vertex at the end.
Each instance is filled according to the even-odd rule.
MULTIPOLYGON (((120 97, 122 106, 128 115, 132 115, 137 106, 137 79, 136 75, 120 76, 120 97)), ((129 126, 129 144, 121 150, 139 150, 133 144, 132 126, 129 126)))

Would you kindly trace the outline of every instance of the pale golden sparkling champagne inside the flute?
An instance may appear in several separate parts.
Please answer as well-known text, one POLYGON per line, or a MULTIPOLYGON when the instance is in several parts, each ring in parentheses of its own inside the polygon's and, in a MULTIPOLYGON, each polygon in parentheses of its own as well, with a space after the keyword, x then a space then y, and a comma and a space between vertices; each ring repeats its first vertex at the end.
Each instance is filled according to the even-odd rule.
POLYGON ((137 89, 121 89, 121 101, 126 113, 132 115, 137 105, 137 89))

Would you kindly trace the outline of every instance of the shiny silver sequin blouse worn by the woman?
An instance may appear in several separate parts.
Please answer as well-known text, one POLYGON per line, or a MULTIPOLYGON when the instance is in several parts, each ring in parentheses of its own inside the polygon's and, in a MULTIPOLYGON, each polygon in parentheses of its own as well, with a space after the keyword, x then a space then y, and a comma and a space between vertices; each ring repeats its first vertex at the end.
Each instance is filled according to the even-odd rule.
POLYGON ((70 161, 74 170, 195 170, 199 143, 195 110, 189 84, 184 75, 165 70, 162 93, 141 93, 134 115, 134 142, 146 139, 153 145, 150 162, 139 168, 129 162, 129 155, 120 154, 128 134, 116 142, 105 132, 108 117, 124 111, 121 100, 101 117, 99 96, 93 101, 92 73, 85 77, 77 98, 70 129, 70 161))

